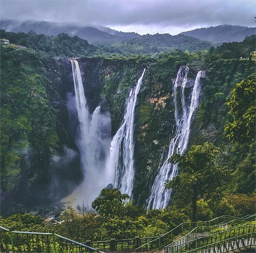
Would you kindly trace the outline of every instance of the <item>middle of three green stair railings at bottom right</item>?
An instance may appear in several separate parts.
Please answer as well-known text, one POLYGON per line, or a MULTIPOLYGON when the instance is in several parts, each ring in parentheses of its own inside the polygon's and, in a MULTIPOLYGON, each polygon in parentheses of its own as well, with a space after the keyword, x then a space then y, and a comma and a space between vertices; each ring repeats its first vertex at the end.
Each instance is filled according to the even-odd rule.
MULTIPOLYGON (((211 233, 209 227, 196 227, 188 235, 164 247, 164 253, 185 252, 191 248, 212 244, 213 242, 255 232, 255 224, 244 224, 224 231, 211 233)), ((214 229, 214 227, 212 227, 214 229)))

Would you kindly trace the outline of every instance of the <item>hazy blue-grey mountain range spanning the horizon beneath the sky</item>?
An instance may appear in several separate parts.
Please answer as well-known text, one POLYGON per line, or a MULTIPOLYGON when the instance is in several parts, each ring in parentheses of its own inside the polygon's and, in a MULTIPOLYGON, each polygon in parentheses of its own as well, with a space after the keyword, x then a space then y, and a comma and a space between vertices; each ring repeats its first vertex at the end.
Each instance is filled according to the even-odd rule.
MULTIPOLYGON (((49 21, 0 20, 1 29, 8 32, 58 36, 61 33, 78 36, 94 44, 99 50, 108 53, 159 53, 170 49, 197 51, 209 49, 223 42, 243 41, 246 36, 255 34, 255 28, 245 26, 220 25, 183 32, 178 35, 119 32, 109 27, 86 24, 54 23, 49 21)), ((82 43, 82 42, 81 42, 82 43)), ((83 44, 83 43, 82 43, 83 44)), ((91 51, 91 50, 90 50, 91 51)))

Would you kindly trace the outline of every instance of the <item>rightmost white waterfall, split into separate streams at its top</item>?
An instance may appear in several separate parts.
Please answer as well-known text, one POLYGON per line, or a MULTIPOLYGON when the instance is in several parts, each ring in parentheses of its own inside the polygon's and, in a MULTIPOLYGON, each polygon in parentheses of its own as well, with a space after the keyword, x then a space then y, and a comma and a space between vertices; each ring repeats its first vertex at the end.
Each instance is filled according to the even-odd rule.
POLYGON ((187 84, 188 71, 189 68, 187 66, 181 66, 177 73, 177 77, 173 81, 173 100, 175 106, 174 115, 176 121, 176 133, 170 141, 167 157, 163 165, 160 167, 154 184, 151 188, 150 197, 147 200, 148 209, 163 209, 167 206, 171 195, 171 189, 166 191, 164 189, 164 183, 166 180, 172 180, 172 178, 178 174, 177 164, 169 164, 168 158, 178 150, 180 154, 183 154, 188 146, 191 119, 199 104, 199 95, 201 90, 200 78, 204 75, 203 70, 197 73, 194 87, 189 96, 190 104, 189 106, 187 106, 185 98, 185 87, 187 84), (179 110, 179 99, 177 94, 178 86, 181 86, 180 101, 182 112, 180 112, 179 110))

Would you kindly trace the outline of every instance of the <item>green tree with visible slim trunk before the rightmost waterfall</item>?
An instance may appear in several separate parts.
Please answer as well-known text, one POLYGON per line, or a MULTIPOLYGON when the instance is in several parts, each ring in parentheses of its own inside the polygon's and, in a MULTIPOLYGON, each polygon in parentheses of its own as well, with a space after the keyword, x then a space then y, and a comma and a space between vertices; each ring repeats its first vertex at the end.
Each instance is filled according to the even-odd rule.
POLYGON ((178 164, 180 172, 165 187, 176 191, 174 199, 182 200, 185 205, 192 203, 192 221, 196 221, 198 196, 212 197, 227 175, 226 167, 217 164, 219 156, 219 148, 205 142, 192 145, 184 154, 174 154, 168 160, 178 164))

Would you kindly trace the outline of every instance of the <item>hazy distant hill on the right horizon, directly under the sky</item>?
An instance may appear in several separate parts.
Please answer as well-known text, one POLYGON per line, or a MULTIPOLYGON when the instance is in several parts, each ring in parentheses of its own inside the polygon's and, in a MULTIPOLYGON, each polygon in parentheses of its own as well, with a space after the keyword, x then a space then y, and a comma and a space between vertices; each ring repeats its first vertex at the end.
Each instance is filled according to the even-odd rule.
POLYGON ((255 27, 219 25, 195 29, 181 34, 213 43, 240 42, 243 41, 246 36, 255 34, 255 27))

